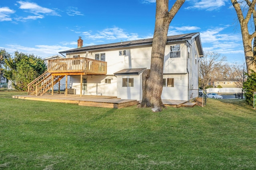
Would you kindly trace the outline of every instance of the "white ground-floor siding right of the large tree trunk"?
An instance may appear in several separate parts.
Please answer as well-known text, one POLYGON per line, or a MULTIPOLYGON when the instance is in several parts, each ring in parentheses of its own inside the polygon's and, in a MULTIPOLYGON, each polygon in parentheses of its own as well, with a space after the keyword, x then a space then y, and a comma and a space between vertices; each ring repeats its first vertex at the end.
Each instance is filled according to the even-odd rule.
POLYGON ((162 100, 188 100, 188 74, 164 75, 174 78, 174 87, 163 87, 162 100))

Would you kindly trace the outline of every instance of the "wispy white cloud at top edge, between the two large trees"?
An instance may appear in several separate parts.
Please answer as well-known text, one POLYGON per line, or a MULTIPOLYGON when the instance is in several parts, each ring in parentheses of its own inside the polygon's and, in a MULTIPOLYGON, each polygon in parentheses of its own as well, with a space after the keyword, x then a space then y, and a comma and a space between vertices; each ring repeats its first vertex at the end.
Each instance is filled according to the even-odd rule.
POLYGON ((189 6, 186 9, 199 9, 212 11, 219 9, 222 6, 225 6, 225 2, 228 0, 188 0, 192 6, 189 6))

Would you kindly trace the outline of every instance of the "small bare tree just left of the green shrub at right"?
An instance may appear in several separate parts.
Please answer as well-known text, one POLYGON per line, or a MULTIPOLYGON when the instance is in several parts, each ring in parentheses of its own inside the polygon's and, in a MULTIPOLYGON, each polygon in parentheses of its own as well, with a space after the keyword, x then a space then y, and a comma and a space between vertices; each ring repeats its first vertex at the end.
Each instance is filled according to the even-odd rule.
POLYGON ((233 66, 230 67, 229 72, 230 78, 235 83, 236 87, 241 89, 242 98, 244 93, 244 82, 247 78, 245 64, 245 62, 243 64, 235 63, 233 64, 233 66))

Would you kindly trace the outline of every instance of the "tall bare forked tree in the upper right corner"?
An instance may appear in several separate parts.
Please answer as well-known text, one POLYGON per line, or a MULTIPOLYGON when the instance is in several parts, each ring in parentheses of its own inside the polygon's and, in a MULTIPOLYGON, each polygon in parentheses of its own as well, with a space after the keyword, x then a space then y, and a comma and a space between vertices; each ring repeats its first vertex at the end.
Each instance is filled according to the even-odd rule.
POLYGON ((231 0, 235 10, 236 14, 241 26, 241 33, 242 33, 242 39, 243 39, 243 45, 244 45, 244 55, 245 55, 245 62, 246 62, 246 68, 247 72, 250 74, 251 70, 256 72, 256 11, 255 11, 255 4, 256 0, 243 0, 238 2, 237 0, 231 0), (243 2, 246 2, 244 4, 243 2), (248 8, 245 8, 247 5, 248 8), (243 10, 242 10, 242 9, 243 10), (245 12, 247 10, 247 13, 245 12), (250 27, 248 27, 249 21, 252 21, 254 24, 252 25, 254 27, 253 33, 250 34, 250 27), (252 41, 254 39, 253 47, 252 47, 252 41))

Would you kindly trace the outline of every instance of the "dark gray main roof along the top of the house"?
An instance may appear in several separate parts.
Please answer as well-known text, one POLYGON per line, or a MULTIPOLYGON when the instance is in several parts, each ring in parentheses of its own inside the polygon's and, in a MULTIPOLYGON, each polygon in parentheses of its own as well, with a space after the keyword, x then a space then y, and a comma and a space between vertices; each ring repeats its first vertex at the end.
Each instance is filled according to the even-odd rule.
MULTIPOLYGON (((198 47, 199 55, 200 57, 203 57, 204 53, 202 50, 201 40, 200 40, 200 34, 197 33, 187 33, 187 34, 181 34, 181 35, 172 35, 167 37, 166 44, 173 43, 177 41, 186 41, 188 39, 196 39, 196 44, 198 47)), ((134 40, 134 41, 124 41, 124 42, 118 42, 118 43, 110 43, 110 44, 102 44, 102 45, 92 45, 82 48, 76 48, 76 49, 70 49, 66 51, 60 51, 59 53, 77 53, 77 52, 85 52, 88 51, 99 51, 99 50, 108 50, 108 49, 118 49, 118 48, 128 48, 128 47, 136 47, 136 46, 152 46, 153 38, 149 39, 140 39, 140 40, 134 40)))

